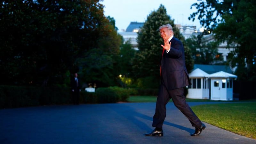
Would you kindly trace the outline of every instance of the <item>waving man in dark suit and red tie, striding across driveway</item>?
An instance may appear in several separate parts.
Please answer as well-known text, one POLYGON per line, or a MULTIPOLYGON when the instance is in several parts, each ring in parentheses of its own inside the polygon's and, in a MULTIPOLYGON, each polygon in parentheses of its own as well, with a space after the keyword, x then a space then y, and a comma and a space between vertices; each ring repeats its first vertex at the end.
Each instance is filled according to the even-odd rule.
POLYGON ((193 127, 196 127, 191 136, 199 135, 205 125, 199 120, 193 110, 186 103, 184 87, 191 84, 185 66, 184 47, 179 39, 174 37, 172 26, 166 24, 158 28, 164 40, 162 60, 160 66, 161 85, 159 88, 156 111, 152 126, 155 129, 146 136, 163 136, 163 123, 166 117, 166 104, 172 99, 174 105, 188 118, 193 127))

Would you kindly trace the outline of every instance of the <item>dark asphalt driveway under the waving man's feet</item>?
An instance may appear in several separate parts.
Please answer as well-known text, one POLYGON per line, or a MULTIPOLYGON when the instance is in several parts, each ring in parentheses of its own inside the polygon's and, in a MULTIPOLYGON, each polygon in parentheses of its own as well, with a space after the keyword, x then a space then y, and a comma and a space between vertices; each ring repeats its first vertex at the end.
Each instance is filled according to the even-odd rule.
POLYGON ((190 136, 195 128, 188 119, 172 102, 166 108, 163 137, 144 136, 154 129, 155 103, 0 109, 0 144, 256 144, 254 139, 205 122, 200 135, 190 136))

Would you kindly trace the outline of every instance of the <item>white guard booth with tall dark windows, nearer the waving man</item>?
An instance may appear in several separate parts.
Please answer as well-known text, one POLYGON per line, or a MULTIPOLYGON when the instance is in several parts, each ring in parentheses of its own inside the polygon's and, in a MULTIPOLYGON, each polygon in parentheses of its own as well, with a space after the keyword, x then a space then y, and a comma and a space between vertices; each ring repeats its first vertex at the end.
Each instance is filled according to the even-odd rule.
POLYGON ((189 99, 209 99, 210 79, 209 74, 196 68, 189 75, 192 85, 188 86, 189 99))

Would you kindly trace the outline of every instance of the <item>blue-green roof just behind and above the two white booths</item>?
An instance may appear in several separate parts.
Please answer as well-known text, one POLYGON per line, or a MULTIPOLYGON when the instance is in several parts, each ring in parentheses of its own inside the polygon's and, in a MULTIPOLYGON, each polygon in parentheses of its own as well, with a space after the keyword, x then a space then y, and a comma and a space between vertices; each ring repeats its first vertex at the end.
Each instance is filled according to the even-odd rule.
POLYGON ((208 74, 216 73, 219 71, 227 72, 230 74, 233 74, 233 71, 229 66, 226 65, 202 65, 202 64, 195 64, 194 69, 200 68, 204 72, 208 74))

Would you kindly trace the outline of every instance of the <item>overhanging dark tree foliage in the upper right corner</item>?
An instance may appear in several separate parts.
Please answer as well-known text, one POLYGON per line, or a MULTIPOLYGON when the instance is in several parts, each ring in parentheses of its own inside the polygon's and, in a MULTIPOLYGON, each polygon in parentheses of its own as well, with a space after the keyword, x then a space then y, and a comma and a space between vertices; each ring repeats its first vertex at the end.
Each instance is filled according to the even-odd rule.
POLYGON ((236 75, 241 80, 256 80, 256 1, 254 0, 198 0, 193 4, 200 23, 213 30, 219 42, 227 42, 227 48, 234 47, 228 56, 232 66, 237 66, 236 75), (246 74, 241 69, 246 68, 246 74))

